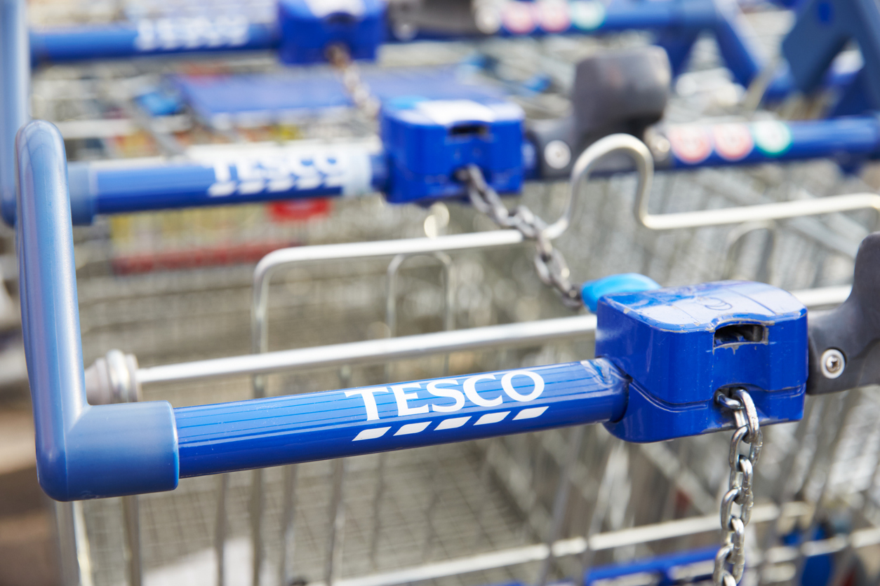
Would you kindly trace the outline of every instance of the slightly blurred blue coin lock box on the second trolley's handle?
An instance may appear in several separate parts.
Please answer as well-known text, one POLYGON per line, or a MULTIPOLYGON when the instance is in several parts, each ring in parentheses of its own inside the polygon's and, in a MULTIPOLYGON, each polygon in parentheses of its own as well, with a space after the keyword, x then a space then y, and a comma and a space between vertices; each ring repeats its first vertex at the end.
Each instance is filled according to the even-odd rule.
POLYGON ((392 99, 383 106, 394 203, 466 196, 455 172, 477 165, 496 192, 523 184, 524 112, 502 100, 392 99))

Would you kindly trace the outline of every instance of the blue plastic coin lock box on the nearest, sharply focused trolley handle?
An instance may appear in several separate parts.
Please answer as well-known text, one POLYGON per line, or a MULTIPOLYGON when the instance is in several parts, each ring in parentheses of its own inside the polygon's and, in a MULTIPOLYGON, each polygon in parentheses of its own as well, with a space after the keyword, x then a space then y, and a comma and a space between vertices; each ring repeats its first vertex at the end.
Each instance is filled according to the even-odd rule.
POLYGON ((746 387, 765 423, 803 416, 807 311, 790 293, 737 281, 613 293, 597 317, 596 355, 633 379, 626 415, 608 424, 620 438, 730 427, 715 405, 722 387, 746 387))

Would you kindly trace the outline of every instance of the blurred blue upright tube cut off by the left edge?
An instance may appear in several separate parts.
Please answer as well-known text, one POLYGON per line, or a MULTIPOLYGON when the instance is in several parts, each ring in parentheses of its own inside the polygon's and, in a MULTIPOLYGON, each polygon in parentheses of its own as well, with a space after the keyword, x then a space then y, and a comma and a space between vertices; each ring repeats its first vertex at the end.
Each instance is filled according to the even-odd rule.
POLYGON ((15 134, 27 121, 31 71, 25 0, 0 0, 0 214, 15 222, 15 134))

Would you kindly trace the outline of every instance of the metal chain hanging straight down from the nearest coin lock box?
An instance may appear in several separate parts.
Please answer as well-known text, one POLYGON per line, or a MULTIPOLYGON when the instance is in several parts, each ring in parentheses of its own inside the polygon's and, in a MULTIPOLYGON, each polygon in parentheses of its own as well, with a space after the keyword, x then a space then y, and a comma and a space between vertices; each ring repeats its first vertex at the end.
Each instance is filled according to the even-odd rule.
POLYGON ((749 524, 752 517, 752 506, 755 503, 752 490, 754 471, 764 440, 758 423, 758 411, 745 389, 733 389, 730 395, 719 391, 715 394, 715 402, 722 409, 730 409, 737 430, 730 440, 729 489, 721 500, 721 527, 725 535, 722 546, 715 555, 712 582, 715 586, 737 586, 745 569, 745 525, 749 524), (750 445, 748 456, 740 453, 743 443, 750 445), (733 512, 734 503, 740 507, 738 515, 733 512))

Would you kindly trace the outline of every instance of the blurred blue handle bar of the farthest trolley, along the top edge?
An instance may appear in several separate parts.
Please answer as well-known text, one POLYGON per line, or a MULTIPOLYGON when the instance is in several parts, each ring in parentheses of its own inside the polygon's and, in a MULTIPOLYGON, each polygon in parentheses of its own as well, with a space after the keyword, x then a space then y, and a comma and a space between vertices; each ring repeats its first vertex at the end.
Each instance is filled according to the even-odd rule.
MULTIPOLYGON (((587 4, 587 11, 571 9, 568 21, 546 25, 530 13, 527 21, 504 22, 495 33, 502 37, 546 34, 601 34, 627 30, 712 30, 731 70, 747 84, 760 62, 737 31, 732 7, 714 0, 614 0, 607 6, 587 4)), ((532 7, 526 8, 531 11, 532 7)), ((566 9, 568 10, 568 8, 566 9)), ((424 31, 415 40, 451 40, 461 34, 424 31)), ((693 37, 687 33, 688 38, 693 37)), ((692 39, 693 40, 693 39, 692 39)), ((385 42, 400 42, 389 34, 385 42)), ((409 42, 407 40, 406 42, 409 42)), ((245 18, 161 18, 135 24, 48 28, 31 33, 33 63, 114 59, 135 55, 193 53, 216 50, 268 50, 281 44, 277 25, 249 23, 245 18)))

